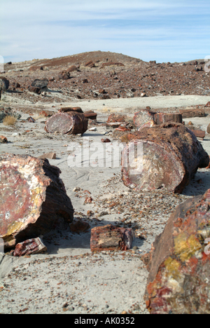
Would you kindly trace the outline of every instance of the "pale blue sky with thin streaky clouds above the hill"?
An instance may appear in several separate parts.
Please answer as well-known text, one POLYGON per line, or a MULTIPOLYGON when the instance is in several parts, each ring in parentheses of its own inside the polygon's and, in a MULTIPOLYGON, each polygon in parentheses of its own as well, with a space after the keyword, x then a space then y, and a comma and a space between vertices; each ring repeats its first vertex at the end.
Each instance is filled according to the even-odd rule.
POLYGON ((1 0, 4 62, 86 51, 181 62, 210 55, 209 0, 1 0))

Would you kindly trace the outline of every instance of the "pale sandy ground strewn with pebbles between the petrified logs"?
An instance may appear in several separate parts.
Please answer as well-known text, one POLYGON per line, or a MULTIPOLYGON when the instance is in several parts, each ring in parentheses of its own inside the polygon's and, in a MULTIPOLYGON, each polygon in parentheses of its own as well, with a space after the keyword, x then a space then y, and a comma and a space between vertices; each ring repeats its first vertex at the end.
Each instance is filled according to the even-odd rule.
MULTIPOLYGON (((6 96, 6 99, 8 97, 6 96)), ((209 100, 209 97, 171 96, 62 102, 62 107, 76 105, 83 110, 92 109, 97 111, 99 123, 104 123, 108 115, 113 112, 120 111, 132 116, 138 107, 151 106, 153 109, 183 107, 207 104, 209 100)), ((4 105, 8 104, 10 103, 6 102, 4 105)), ((24 104, 21 105, 24 107, 24 104)), ((50 109, 52 105, 52 103, 45 104, 45 107, 50 109)), ((55 105, 57 108, 60 106, 60 104, 55 105)), ((10 106, 12 107, 12 104, 10 106)), ((31 107, 30 104, 27 106, 31 107)), ((33 107, 36 114, 38 104, 33 107)), ((23 119, 27 117, 27 114, 22 114, 23 119)), ((157 204, 157 208, 153 214, 140 217, 139 221, 133 216, 129 219, 136 238, 132 244, 134 249, 128 252, 92 254, 90 229, 86 233, 76 234, 61 228, 59 231, 52 231, 44 236, 43 240, 48 247, 48 254, 22 258, 10 257, 8 254, 0 255, 0 313, 120 314, 123 311, 127 314, 148 313, 144 303, 148 272, 141 261, 141 256, 151 249, 155 236, 162 232, 176 205, 209 189, 210 171, 198 170, 195 180, 186 187, 183 195, 175 197, 160 193, 155 196, 154 203, 153 196, 130 192, 123 185, 120 180, 120 165, 116 168, 92 166, 69 168, 68 157, 71 158, 73 153, 76 153, 66 146, 68 144, 71 146, 71 142, 78 142, 83 146, 85 138, 89 138, 90 143, 100 142, 105 134, 112 142, 118 142, 113 139, 104 125, 97 125, 97 131, 87 131, 83 137, 50 136, 43 129, 43 121, 43 118, 37 118, 36 123, 18 121, 14 128, 5 127, 3 123, 0 123, 1 135, 8 138, 8 144, 1 144, 0 153, 27 153, 31 156, 40 156, 43 153, 55 151, 57 159, 49 161, 62 171, 61 178, 76 211, 75 218, 88 221, 91 228, 110 223, 123 226, 122 220, 125 215, 129 217, 129 209, 125 210, 125 213, 109 209, 109 203, 119 197, 122 206, 125 206, 123 204, 127 201, 134 201, 134 203, 139 201, 142 208, 146 207, 146 203, 150 204, 149 202, 153 205, 157 204), (30 131, 26 132, 28 130, 30 131), (200 179, 202 182, 198 183, 200 179), (76 186, 83 190, 75 193, 73 189, 76 186), (83 191, 85 190, 90 191, 94 200, 92 204, 84 204, 83 191), (165 206, 165 212, 158 204, 165 206), (169 204, 171 207, 167 208, 169 204), (87 210, 94 212, 92 218, 87 217, 87 210), (139 233, 141 229, 146 231, 145 238, 139 233)), ((190 118, 184 121, 192 121, 206 130, 210 117, 190 118)), ((207 134, 202 145, 210 153, 210 135, 207 134)), ((92 160, 92 165, 94 165, 94 160, 92 160)))

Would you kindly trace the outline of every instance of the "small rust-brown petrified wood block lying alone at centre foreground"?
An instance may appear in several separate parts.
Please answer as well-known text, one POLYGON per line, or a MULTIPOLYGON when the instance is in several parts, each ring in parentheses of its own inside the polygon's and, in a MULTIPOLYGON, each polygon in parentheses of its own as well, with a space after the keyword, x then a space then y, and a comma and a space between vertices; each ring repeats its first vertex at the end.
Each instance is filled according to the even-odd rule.
POLYGON ((134 232, 131 228, 118 228, 112 224, 97 226, 91 230, 90 249, 92 252, 103 250, 130 250, 134 232))

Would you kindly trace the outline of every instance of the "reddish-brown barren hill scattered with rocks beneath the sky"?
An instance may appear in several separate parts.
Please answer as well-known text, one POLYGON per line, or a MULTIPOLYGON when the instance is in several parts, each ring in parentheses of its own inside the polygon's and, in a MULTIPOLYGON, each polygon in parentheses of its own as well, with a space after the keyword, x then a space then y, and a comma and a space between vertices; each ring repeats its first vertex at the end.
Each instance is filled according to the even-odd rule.
POLYGON ((204 71, 204 64, 201 60, 144 62, 119 53, 92 51, 6 64, 2 75, 10 81, 8 92, 12 97, 32 103, 157 95, 209 95, 209 74, 204 71), (69 76, 66 76, 63 72, 72 65, 74 69, 70 69, 69 76), (45 95, 29 92, 28 88, 35 78, 48 78, 45 95), (15 88, 15 83, 19 83, 20 88, 15 88))

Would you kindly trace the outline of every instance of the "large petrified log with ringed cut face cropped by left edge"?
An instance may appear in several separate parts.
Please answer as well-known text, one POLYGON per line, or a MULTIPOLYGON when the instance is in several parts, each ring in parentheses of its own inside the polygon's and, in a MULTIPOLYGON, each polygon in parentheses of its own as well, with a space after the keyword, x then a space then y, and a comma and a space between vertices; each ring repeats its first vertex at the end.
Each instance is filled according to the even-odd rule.
POLYGON ((27 155, 0 156, 0 238, 6 248, 73 221, 59 168, 27 155))

